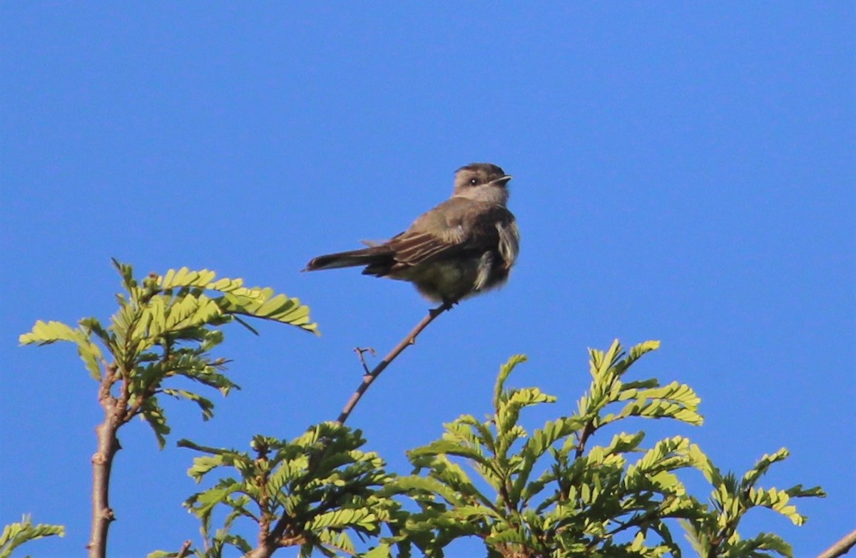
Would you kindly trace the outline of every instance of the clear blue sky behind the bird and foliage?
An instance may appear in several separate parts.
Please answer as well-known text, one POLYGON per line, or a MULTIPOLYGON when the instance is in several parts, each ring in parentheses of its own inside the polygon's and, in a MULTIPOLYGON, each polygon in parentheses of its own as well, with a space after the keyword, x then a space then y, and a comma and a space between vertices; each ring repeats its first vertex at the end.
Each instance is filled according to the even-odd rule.
POLYGON ((854 23, 853 3, 0 4, 0 523, 67 525, 35 555, 86 543, 96 386, 73 347, 17 336, 106 319, 110 257, 274 287, 323 332, 227 331, 243 389, 213 421, 169 404, 164 451, 122 431, 110 550, 139 556, 197 533, 193 454, 172 442, 335 419, 352 349, 385 353, 428 307, 306 261, 405 229, 489 161, 514 175, 518 265, 372 387, 349 421, 369 447, 407 472, 404 450, 487 412, 513 353, 516 384, 569 413, 586 347, 659 339, 636 373, 689 383, 706 424, 627 429, 738 472, 789 448, 766 485, 829 497, 802 502, 805 527, 758 512, 746 535, 816 555, 856 516, 854 23))

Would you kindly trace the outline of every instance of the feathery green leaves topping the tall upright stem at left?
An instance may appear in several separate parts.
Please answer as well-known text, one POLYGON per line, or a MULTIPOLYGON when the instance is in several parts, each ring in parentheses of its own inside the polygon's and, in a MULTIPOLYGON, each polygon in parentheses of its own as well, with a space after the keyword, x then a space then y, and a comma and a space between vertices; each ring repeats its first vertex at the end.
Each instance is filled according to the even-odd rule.
POLYGON ((113 263, 124 292, 116 295, 119 308, 108 325, 96 318, 84 318, 77 327, 39 321, 20 341, 74 343, 86 370, 101 383, 102 405, 118 424, 142 416, 161 447, 169 434, 162 395, 192 401, 203 419, 211 418, 214 407, 195 391, 166 386, 169 378, 185 377, 223 395, 238 387, 223 373, 227 361, 211 357, 223 341, 221 326, 236 320, 249 327, 242 318, 260 318, 318 333, 307 306, 270 288, 247 288, 241 279, 187 268, 138 281, 130 265, 113 263))

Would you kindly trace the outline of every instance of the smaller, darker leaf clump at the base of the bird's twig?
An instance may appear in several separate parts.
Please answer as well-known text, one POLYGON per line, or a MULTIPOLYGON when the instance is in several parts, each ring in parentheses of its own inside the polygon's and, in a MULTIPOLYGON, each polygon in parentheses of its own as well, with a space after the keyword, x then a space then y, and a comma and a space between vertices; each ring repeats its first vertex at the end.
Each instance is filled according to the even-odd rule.
POLYGON ((252 453, 182 440, 180 446, 205 454, 193 460, 191 477, 220 476, 185 502, 202 522, 205 547, 196 554, 220 558, 229 547, 250 553, 251 543, 232 532, 244 519, 258 525, 271 552, 296 547, 301 558, 313 551, 354 555, 352 536, 377 536, 398 508, 378 493, 389 476, 377 454, 360 450, 364 443, 359 430, 335 423, 312 426, 290 442, 255 436, 252 453), (226 519, 212 531, 212 514, 221 509, 226 519))

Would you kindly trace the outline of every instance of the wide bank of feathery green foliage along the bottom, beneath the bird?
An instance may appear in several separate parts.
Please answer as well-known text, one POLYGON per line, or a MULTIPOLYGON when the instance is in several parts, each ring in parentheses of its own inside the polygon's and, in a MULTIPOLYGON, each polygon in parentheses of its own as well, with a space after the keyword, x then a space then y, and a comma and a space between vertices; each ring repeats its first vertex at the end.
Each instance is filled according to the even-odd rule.
POLYGON ((531 431, 521 421, 523 412, 556 397, 535 387, 509 387, 512 371, 525 360, 512 357, 496 379, 493 412, 483 420, 465 414, 445 424, 440 439, 408 452, 414 466, 409 475, 384 471, 376 454, 359 449, 365 442, 359 432, 332 423, 292 442, 267 439, 265 447, 282 452, 272 460, 259 453, 259 439, 254 458, 185 442, 206 454, 194 460, 194 478, 222 466, 241 471, 240 478, 222 478, 186 502, 203 522, 205 543, 197 555, 220 558, 231 544, 249 556, 298 547, 300 556, 315 550, 328 556, 442 558, 449 543, 477 537, 488 558, 679 558, 682 549, 672 532, 678 520, 704 558, 792 555, 781 537, 760 533, 743 539, 737 531, 753 507, 773 509, 801 525, 805 518, 789 499, 823 496, 817 488, 756 486, 770 465, 784 459, 784 450, 765 455, 740 484, 729 484, 734 475, 719 472, 683 436, 648 445, 643 431, 618 432, 602 445, 594 443, 603 426, 627 419, 702 424, 700 400, 686 384, 627 380, 633 363, 658 345, 646 341, 625 351, 615 341, 607 351, 591 350, 591 385, 576 412, 531 431), (710 480, 710 502, 688 493, 681 477, 693 470, 710 480), (336 483, 340 488, 330 496, 336 483), (211 531, 218 507, 226 520, 211 531), (258 524, 270 546, 253 547, 235 535, 237 519, 258 524), (270 525, 288 527, 271 537, 270 525), (387 536, 380 535, 384 526, 387 536), (374 543, 360 552, 354 535, 374 543))

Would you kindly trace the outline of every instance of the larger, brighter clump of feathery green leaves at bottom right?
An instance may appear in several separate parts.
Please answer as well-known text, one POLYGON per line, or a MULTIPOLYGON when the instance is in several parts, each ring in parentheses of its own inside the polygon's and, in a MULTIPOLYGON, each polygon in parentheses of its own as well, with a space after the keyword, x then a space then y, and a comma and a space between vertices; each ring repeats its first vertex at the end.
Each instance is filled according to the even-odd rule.
MULTIPOLYGON (((396 545, 400 556, 411 555, 415 546, 439 558, 460 537, 481 539, 488 558, 680 558, 670 530, 675 519, 697 525, 704 534, 715 532, 718 524, 709 525, 711 520, 731 525, 732 515, 720 519, 717 513, 732 506, 728 495, 734 490, 715 496, 718 511, 687 494, 682 470, 702 471, 715 486, 722 478, 687 438, 644 446, 643 432, 620 432, 604 445, 592 443, 604 425, 633 417, 702 423, 700 400, 687 385, 626 380, 631 366, 658 346, 646 341, 625 351, 615 341, 607 351, 591 350, 591 385, 576 413, 531 431, 521 424, 521 413, 556 397, 538 388, 509 388, 512 371, 525 358, 509 359, 499 371, 493 411, 486 419, 462 415, 445 424, 442 438, 408 453, 415 474, 395 478, 387 491, 406 495, 418 511, 395 514, 394 537, 373 549, 372 558, 388 558, 396 545)), ((777 459, 762 460, 739 491, 746 502, 794 519, 798 516, 788 508, 788 497, 819 492, 754 489, 768 462, 777 459)), ((751 548, 782 546, 770 536, 757 537, 739 549, 734 546, 736 554, 728 556, 742 556, 751 548)))

